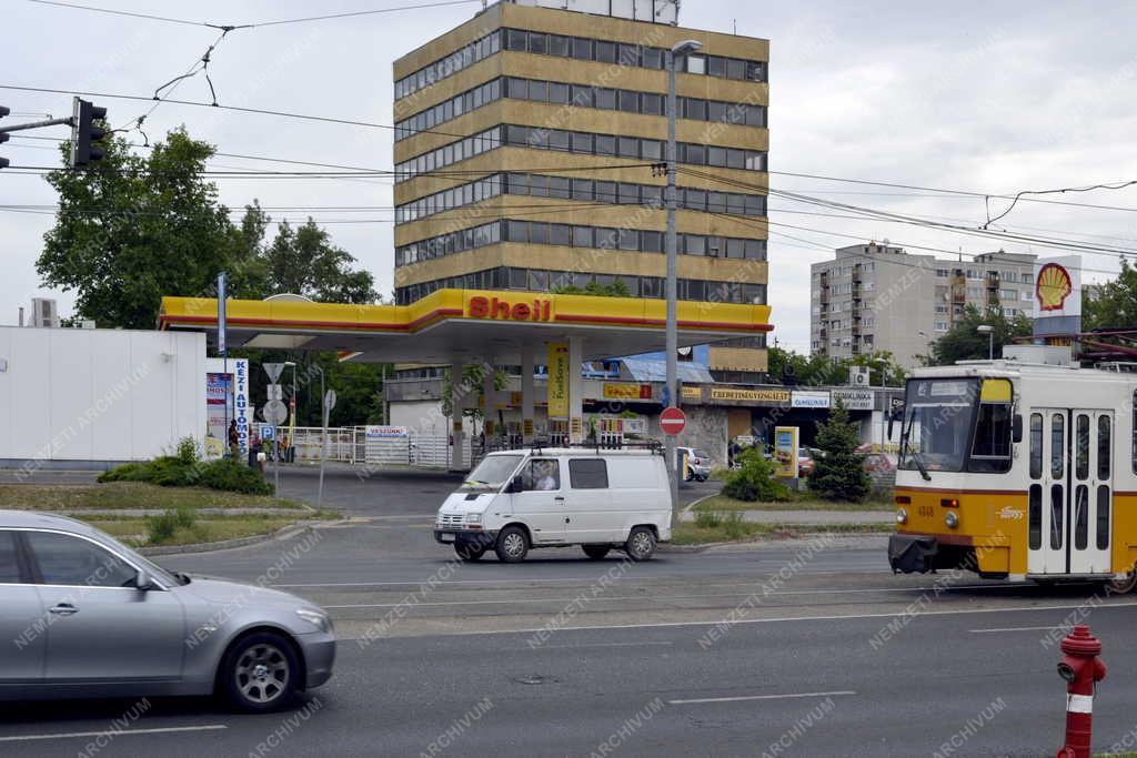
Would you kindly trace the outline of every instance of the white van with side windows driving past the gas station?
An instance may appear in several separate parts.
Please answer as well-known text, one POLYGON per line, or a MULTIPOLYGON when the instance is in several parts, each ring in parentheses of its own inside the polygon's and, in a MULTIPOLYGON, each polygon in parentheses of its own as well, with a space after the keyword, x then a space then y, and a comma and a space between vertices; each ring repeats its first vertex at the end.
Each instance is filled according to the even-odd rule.
POLYGON ((434 539, 463 560, 493 549, 504 563, 532 548, 624 550, 647 560, 671 540, 664 458, 652 450, 550 448, 493 452, 438 511, 434 539))

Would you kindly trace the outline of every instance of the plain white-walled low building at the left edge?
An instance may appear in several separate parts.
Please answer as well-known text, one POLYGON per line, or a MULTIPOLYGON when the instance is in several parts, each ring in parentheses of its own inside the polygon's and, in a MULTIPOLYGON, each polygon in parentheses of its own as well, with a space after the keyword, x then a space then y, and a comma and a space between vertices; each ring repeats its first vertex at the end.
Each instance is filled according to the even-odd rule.
POLYGON ((206 338, 0 326, 0 467, 107 468, 206 428, 206 338))

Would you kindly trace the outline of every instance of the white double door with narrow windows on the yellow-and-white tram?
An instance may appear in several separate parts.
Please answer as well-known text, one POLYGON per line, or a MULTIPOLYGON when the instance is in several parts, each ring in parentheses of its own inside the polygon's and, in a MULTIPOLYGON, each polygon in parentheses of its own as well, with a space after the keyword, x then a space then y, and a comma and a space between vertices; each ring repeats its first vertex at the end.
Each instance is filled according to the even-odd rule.
POLYGON ((1030 414, 1031 574, 1106 574, 1113 502, 1113 411, 1030 414))

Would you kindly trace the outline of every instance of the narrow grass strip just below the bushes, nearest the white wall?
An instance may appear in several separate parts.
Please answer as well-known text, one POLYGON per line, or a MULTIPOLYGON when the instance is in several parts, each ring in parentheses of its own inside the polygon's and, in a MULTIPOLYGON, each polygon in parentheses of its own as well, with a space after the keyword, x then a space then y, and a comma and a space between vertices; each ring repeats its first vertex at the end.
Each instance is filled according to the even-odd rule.
POLYGON ((222 492, 199 486, 158 486, 144 482, 106 484, 0 484, 0 508, 84 510, 89 508, 304 508, 297 500, 222 492))

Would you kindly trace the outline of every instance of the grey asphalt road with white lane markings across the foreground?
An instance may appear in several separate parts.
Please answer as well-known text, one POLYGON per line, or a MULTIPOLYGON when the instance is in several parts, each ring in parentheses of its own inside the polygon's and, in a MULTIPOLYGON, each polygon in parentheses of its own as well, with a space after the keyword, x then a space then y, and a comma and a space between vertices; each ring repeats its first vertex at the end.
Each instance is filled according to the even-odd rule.
POLYGON ((894 576, 880 538, 456 565, 426 492, 453 483, 367 485, 331 485, 349 524, 161 559, 271 576, 330 610, 337 673, 297 709, 155 700, 135 720, 136 701, 6 705, 0 755, 1053 755, 1053 630, 1073 620, 1105 645, 1096 750, 1137 744, 1137 597, 894 576))

